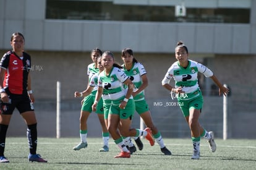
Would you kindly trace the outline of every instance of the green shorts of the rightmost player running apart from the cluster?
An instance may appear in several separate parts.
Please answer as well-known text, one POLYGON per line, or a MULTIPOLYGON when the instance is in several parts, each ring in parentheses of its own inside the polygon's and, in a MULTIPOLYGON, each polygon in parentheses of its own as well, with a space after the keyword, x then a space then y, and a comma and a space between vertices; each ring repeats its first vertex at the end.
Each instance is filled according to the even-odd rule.
POLYGON ((190 100, 179 100, 179 108, 181 108, 181 111, 184 115, 184 117, 189 116, 189 110, 194 108, 198 110, 202 110, 203 108, 203 96, 202 94, 196 98, 192 98, 190 100))

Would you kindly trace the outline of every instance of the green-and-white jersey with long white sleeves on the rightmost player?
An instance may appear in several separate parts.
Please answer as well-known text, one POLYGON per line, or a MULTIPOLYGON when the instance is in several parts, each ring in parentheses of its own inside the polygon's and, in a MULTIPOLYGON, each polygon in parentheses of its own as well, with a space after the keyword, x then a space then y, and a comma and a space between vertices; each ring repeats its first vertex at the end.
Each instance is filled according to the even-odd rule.
POLYGON ((198 72, 205 75, 205 77, 211 77, 213 75, 210 69, 198 62, 189 60, 189 66, 185 69, 179 66, 179 62, 176 61, 168 69, 168 72, 162 80, 162 84, 169 83, 173 78, 175 80, 175 88, 182 87, 182 90, 187 93, 187 95, 177 96, 177 98, 189 100, 199 95, 199 93, 197 93, 197 91, 200 90, 197 80, 198 72))

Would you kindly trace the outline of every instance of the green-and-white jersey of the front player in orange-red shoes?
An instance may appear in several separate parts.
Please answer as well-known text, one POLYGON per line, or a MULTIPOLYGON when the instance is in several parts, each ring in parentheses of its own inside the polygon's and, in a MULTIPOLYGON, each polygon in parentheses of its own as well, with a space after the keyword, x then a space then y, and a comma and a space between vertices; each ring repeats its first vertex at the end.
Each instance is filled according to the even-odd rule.
POLYGON ((98 78, 98 87, 103 87, 103 95, 108 95, 110 100, 119 100, 126 96, 127 90, 122 88, 129 77, 123 70, 113 67, 109 75, 101 72, 98 78))

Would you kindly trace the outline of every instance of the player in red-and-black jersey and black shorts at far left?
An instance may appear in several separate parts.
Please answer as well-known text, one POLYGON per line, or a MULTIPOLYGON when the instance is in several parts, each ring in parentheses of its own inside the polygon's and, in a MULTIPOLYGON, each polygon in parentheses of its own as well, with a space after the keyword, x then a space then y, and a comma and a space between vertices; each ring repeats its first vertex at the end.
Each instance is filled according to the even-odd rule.
POLYGON ((37 129, 36 116, 33 108, 35 101, 31 87, 31 59, 24 51, 25 38, 22 33, 15 32, 11 36, 12 51, 8 51, 0 62, 0 163, 9 163, 4 156, 6 132, 12 113, 17 108, 27 124, 27 138, 30 154, 28 161, 46 163, 36 154, 37 129))

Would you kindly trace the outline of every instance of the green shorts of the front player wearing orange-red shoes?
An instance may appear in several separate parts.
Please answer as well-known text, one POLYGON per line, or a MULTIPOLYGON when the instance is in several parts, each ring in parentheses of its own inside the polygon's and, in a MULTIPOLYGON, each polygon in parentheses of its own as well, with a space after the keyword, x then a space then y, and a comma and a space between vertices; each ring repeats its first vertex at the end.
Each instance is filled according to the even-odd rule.
POLYGON ((132 119, 135 112, 135 103, 133 99, 129 99, 125 109, 119 108, 120 100, 112 101, 109 114, 118 114, 120 119, 132 119))

